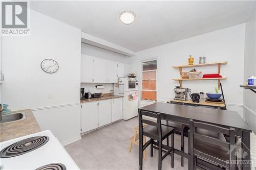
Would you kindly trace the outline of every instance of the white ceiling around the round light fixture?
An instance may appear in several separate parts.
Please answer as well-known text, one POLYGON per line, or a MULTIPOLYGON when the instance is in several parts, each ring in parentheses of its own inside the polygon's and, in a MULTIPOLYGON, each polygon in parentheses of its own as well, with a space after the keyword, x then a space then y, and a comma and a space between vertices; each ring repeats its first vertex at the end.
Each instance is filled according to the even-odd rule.
POLYGON ((137 52, 243 23, 254 1, 31 1, 30 6, 137 52), (124 10, 136 14, 131 25, 119 20, 124 10))

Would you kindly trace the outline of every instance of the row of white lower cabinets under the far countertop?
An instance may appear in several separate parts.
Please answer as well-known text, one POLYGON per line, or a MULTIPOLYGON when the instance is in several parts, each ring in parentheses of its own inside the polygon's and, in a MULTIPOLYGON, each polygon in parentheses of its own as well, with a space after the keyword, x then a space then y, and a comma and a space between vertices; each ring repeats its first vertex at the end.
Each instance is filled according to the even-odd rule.
POLYGON ((81 133, 122 118, 122 98, 81 104, 81 133))

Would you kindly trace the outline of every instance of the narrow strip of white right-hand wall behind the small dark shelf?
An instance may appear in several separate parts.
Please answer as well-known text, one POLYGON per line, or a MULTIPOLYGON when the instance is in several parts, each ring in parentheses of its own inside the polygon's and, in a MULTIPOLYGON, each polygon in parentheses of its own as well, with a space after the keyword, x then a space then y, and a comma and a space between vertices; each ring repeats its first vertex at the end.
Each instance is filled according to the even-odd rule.
MULTIPOLYGON (((256 76, 256 9, 252 11, 245 26, 244 83, 249 76, 256 76)), ((244 89, 244 117, 256 133, 256 94, 244 89)))

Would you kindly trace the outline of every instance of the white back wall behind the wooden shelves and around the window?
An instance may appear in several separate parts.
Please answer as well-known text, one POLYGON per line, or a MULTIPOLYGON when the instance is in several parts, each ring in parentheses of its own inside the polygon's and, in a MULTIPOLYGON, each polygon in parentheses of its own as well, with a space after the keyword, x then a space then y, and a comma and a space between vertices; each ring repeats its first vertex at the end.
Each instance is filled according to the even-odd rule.
MULTIPOLYGON (((158 101, 173 99, 174 88, 179 85, 173 78, 179 78, 179 70, 172 68, 174 65, 188 64, 188 56, 194 57, 194 63, 199 63, 199 57, 205 56, 206 62, 228 61, 221 67, 221 75, 228 77, 222 81, 227 108, 237 110, 243 116, 243 89, 239 86, 244 82, 244 32, 245 24, 202 34, 188 39, 160 45, 141 52, 132 57, 130 62, 141 74, 141 60, 157 58, 158 75, 157 90, 158 101)), ((192 68, 184 69, 190 70, 192 68)), ((204 74, 217 73, 217 66, 198 67, 197 70, 204 74)), ((217 81, 183 81, 183 87, 188 87, 192 92, 212 92, 217 86, 217 81)))

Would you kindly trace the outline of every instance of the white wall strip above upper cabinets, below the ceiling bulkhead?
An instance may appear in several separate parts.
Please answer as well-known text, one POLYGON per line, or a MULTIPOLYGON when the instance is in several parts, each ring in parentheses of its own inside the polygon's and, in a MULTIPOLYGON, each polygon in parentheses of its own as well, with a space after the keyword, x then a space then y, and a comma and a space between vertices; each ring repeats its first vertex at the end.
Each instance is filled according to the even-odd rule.
POLYGON ((99 57, 106 60, 112 60, 112 61, 117 61, 121 63, 127 63, 127 60, 131 58, 131 57, 124 56, 122 54, 105 50, 103 48, 99 48, 86 43, 81 43, 81 53, 89 56, 99 57))

